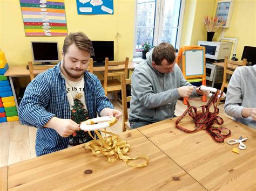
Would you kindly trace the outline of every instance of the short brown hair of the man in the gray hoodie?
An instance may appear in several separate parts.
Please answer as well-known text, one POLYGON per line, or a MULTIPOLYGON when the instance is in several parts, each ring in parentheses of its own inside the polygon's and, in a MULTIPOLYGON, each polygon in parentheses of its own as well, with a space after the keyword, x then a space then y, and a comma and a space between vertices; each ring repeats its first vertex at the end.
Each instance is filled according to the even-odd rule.
POLYGON ((158 46, 154 47, 152 53, 152 61, 156 65, 161 65, 161 62, 166 59, 170 64, 176 59, 174 47, 169 43, 160 43, 158 46))

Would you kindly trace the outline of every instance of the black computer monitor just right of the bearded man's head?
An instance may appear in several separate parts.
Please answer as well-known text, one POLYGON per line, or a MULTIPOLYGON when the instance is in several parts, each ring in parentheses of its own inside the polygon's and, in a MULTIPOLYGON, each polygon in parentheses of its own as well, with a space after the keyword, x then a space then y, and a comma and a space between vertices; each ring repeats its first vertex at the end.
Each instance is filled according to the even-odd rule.
POLYGON ((103 62, 105 58, 114 60, 114 41, 92 41, 94 49, 93 61, 103 62))

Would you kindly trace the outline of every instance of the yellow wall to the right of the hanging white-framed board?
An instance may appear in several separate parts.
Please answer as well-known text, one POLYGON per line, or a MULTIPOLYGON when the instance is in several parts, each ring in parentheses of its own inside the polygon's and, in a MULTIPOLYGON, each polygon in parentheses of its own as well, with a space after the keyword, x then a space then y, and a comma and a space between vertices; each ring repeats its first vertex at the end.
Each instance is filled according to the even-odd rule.
MULTIPOLYGON (((238 38, 237 58, 241 60, 244 46, 256 46, 256 0, 235 0, 230 27, 225 29, 224 37, 238 38)), ((214 34, 213 40, 220 40, 219 35, 214 34)))

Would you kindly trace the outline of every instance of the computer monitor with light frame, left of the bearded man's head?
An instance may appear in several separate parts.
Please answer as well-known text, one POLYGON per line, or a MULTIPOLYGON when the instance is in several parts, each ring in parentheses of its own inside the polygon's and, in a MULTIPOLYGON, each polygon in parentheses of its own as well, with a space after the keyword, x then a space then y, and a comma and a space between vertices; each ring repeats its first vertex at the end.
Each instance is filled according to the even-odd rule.
POLYGON ((58 42, 31 41, 34 62, 43 64, 59 60, 58 42))

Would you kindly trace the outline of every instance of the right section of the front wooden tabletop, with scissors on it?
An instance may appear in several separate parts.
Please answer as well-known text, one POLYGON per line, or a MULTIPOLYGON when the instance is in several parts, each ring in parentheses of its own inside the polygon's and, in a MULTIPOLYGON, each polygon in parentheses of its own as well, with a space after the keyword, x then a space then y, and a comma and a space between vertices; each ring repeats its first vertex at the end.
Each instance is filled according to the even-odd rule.
MULTIPOLYGON (((256 130, 223 117, 222 126, 232 132, 223 144, 215 142, 205 130, 185 133, 175 128, 177 118, 147 125, 138 130, 164 153, 193 176, 206 189, 255 190, 256 189, 256 130), (227 140, 248 137, 246 149, 240 154, 232 152, 236 145, 227 140)), ((194 129, 190 117, 180 125, 194 129)))

